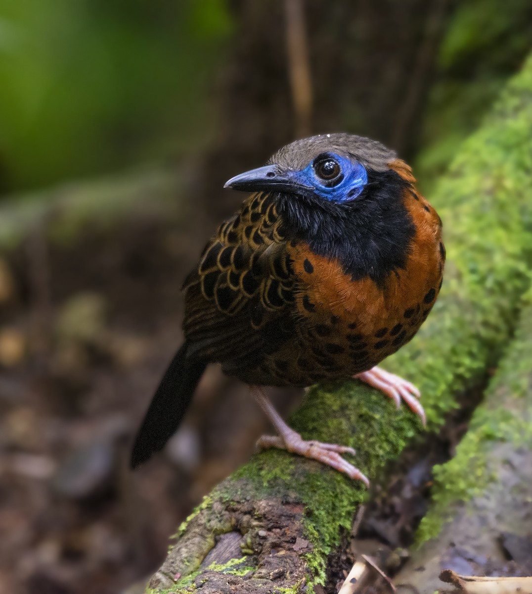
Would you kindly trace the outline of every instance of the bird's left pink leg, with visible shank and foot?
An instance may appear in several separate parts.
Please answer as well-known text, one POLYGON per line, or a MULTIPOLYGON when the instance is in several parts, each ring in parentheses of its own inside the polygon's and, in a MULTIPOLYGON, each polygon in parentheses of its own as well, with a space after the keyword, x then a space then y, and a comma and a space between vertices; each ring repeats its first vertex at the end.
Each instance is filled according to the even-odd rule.
POLYGON ((305 458, 318 460, 322 464, 332 466, 339 472, 343 472, 352 479, 360 479, 366 485, 369 485, 368 479, 355 466, 349 464, 340 456, 340 454, 355 454, 355 450, 347 445, 325 444, 320 441, 307 441, 301 438, 294 429, 289 428, 283 421, 281 415, 275 410, 269 398, 263 391, 257 387, 252 386, 251 393, 257 404, 266 414, 267 418, 275 427, 279 437, 274 435, 263 435, 257 441, 257 446, 260 448, 276 447, 280 450, 287 450, 294 454, 300 454, 305 458))

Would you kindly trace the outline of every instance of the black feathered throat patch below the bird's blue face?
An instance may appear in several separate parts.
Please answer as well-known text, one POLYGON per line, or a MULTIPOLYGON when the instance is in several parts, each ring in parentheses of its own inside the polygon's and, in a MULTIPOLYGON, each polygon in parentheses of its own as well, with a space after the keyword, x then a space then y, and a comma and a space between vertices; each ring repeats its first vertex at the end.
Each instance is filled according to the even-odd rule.
POLYGON ((403 201, 409 185, 393 170, 368 172, 364 191, 349 203, 292 194, 275 200, 289 240, 338 260, 353 280, 369 277, 382 287, 393 271, 406 266, 416 232, 403 201))

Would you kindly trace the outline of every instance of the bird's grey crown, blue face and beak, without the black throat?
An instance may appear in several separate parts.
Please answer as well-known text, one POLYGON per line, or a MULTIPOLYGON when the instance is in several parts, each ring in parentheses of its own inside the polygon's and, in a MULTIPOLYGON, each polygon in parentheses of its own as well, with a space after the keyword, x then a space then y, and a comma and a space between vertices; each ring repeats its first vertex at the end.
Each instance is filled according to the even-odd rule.
POLYGON ((241 173, 225 187, 280 192, 307 198, 314 206, 348 206, 367 187, 368 174, 386 172, 396 158, 369 138, 323 134, 287 144, 269 165, 241 173))

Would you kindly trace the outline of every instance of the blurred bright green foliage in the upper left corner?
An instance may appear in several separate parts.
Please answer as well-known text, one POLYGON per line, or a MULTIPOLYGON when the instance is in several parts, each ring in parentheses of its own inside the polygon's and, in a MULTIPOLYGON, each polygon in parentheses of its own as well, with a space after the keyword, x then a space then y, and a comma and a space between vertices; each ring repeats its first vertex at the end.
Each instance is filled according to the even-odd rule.
POLYGON ((2 190, 197 150, 233 28, 224 0, 2 0, 2 190))

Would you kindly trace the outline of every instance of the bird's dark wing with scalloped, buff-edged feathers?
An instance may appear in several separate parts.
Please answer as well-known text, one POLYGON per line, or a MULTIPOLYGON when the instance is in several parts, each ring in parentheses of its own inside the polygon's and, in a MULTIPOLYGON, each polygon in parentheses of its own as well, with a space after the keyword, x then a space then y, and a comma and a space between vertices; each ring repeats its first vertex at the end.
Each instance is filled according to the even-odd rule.
POLYGON ((253 194, 184 282, 190 355, 228 368, 256 365, 293 334, 295 284, 275 204, 253 194))

